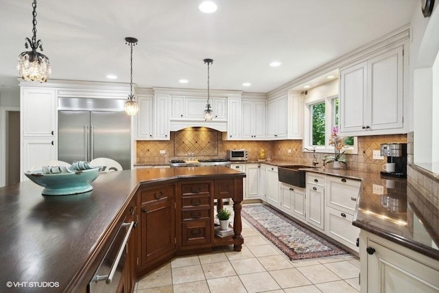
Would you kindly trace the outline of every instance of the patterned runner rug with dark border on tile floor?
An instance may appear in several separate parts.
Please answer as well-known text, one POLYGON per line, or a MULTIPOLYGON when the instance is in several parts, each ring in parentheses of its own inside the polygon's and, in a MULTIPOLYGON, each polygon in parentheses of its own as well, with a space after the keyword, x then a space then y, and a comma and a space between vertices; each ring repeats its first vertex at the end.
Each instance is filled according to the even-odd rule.
POLYGON ((243 204, 241 215, 290 260, 348 254, 265 204, 243 204))

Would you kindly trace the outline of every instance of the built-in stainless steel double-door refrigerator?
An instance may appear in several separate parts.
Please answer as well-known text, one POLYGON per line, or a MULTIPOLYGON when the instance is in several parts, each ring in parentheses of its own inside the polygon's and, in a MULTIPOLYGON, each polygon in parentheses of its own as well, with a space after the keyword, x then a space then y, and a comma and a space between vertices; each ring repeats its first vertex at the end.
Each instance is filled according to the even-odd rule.
POLYGON ((121 99, 58 99, 58 159, 110 158, 130 169, 130 116, 121 99))

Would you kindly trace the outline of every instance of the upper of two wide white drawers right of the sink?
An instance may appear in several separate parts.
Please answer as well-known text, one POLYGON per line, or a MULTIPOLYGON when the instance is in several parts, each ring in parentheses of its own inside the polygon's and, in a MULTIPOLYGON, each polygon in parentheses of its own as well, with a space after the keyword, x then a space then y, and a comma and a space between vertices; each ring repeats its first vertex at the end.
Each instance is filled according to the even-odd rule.
POLYGON ((327 178, 327 206, 354 213, 361 182, 346 178, 327 178))

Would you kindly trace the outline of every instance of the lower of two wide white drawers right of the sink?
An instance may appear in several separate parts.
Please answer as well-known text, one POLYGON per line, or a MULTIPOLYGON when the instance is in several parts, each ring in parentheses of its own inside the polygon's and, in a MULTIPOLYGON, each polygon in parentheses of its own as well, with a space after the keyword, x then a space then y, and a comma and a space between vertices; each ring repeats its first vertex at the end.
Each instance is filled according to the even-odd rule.
POLYGON ((351 214, 327 207, 325 219, 326 234, 337 242, 358 252, 357 238, 359 237, 359 228, 353 226, 352 220, 353 216, 351 214))

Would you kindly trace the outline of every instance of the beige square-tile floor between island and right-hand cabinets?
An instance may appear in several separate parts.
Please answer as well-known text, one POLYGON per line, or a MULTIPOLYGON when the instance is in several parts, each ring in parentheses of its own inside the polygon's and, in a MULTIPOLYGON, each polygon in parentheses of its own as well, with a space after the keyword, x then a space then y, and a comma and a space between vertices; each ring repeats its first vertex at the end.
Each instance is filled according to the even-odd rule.
POLYGON ((243 220, 244 246, 178 257, 140 279, 134 292, 359 292, 359 259, 353 255, 289 261, 243 220))

